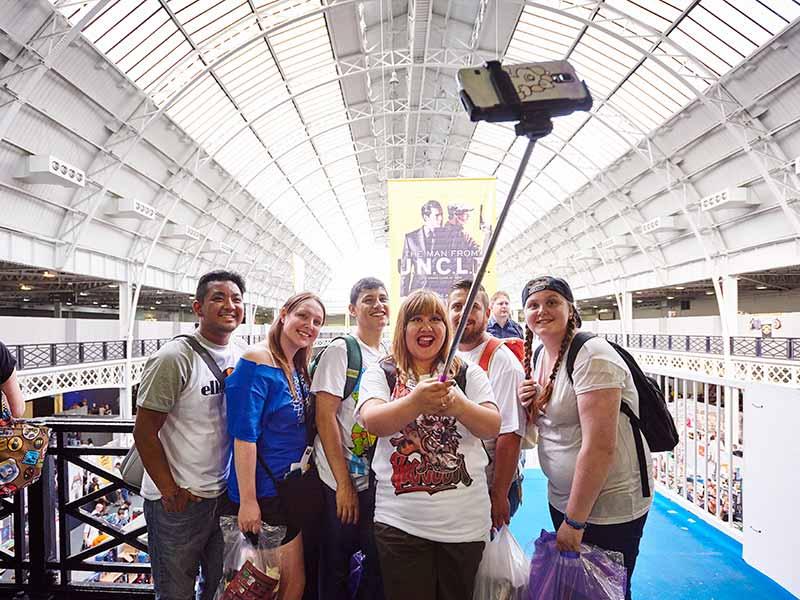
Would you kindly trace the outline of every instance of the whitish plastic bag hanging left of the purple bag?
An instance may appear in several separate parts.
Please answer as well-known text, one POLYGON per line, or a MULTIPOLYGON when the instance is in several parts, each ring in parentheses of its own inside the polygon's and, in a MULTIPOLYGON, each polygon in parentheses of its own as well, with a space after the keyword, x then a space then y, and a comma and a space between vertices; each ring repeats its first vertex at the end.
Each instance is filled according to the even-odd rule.
POLYGON ((503 525, 486 544, 475 575, 473 600, 525 600, 528 559, 508 527, 503 525))

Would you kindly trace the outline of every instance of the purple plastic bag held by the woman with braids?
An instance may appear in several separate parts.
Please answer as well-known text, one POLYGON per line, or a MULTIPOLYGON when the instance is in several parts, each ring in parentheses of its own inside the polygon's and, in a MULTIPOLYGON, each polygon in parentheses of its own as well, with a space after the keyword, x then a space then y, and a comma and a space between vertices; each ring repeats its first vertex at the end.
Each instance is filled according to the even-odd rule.
POLYGON ((542 530, 531 560, 528 600, 625 600, 622 554, 589 544, 560 552, 556 534, 542 530))

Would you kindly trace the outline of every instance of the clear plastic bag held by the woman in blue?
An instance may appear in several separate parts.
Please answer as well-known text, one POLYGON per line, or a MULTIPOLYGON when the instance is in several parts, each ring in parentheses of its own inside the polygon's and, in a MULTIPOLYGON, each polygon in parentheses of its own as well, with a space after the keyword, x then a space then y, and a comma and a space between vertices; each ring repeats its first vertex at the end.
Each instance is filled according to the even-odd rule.
MULTIPOLYGON (((283 525, 274 526, 261 523, 261 532, 258 539, 254 535, 246 536, 239 531, 237 518, 235 516, 220 517, 219 526, 222 529, 222 537, 225 540, 225 554, 222 561, 222 579, 217 587, 215 600, 225 598, 228 585, 236 577, 242 567, 248 561, 257 570, 267 576, 269 580, 280 581, 280 557, 278 546, 281 545, 286 535, 286 527, 283 525), (255 542, 255 543, 254 543, 255 542)), ((271 587, 269 584, 265 584, 271 587)), ((280 585, 279 583, 276 584, 280 585)), ((277 598, 277 587, 271 590, 270 595, 264 598, 277 598)), ((232 590, 228 590, 227 597, 238 598, 232 590)))

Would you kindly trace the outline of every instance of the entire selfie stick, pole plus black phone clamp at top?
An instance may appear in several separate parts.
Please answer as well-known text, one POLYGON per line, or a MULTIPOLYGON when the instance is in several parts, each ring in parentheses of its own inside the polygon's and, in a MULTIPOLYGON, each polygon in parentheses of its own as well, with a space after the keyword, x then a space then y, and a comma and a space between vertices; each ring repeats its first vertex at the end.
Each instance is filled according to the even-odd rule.
MULTIPOLYGON (((571 67, 569 67, 565 61, 562 62, 566 65, 566 68, 572 71, 571 67)), ((527 66, 525 68, 531 67, 527 66)), ((485 107, 476 107, 470 99, 470 90, 466 89, 468 86, 464 85, 464 89, 461 91, 461 100, 464 104, 464 107, 467 109, 467 112, 469 113, 470 120, 519 121, 514 127, 514 132, 518 136, 527 137, 528 144, 525 147, 525 152, 522 154, 519 167, 517 167, 517 173, 514 175, 514 181, 511 184, 511 189, 508 190, 508 196, 506 196, 503 209, 500 211, 500 216, 497 218, 497 226, 494 228, 491 238, 489 238, 489 244, 486 246, 486 252, 484 253, 481 264, 478 267, 478 272, 475 274, 475 278, 472 281, 472 286, 469 288, 467 301, 464 303, 461 319, 459 320, 458 327, 456 328, 456 333, 453 336, 450 351, 447 354, 447 361, 444 364, 444 370, 439 377, 440 381, 446 381, 448 379, 447 373, 450 370, 450 365, 453 363, 453 358, 456 355, 458 344, 461 341, 461 337, 464 335, 464 329, 467 325, 466 315, 472 310, 472 306, 475 303, 475 298, 478 295, 481 281, 486 273, 486 268, 489 265, 492 252, 494 252, 495 244, 497 244, 497 238, 500 235, 500 231, 503 229, 503 224, 508 216, 511 203, 514 201, 514 196, 517 193, 519 183, 522 181, 522 175, 525 173, 525 169, 528 166, 528 160, 530 160, 531 154, 533 153, 533 148, 536 145, 536 141, 553 131, 553 122, 551 120, 552 117, 567 115, 575 110, 589 110, 592 107, 592 96, 589 93, 589 89, 586 87, 585 83, 580 84, 584 94, 579 99, 562 98, 556 103, 554 103, 552 99, 542 102, 538 102, 536 99, 523 101, 520 99, 520 97, 522 96, 524 98, 526 96, 524 94, 518 94, 518 92, 524 89, 524 84, 522 84, 522 89, 519 83, 517 83, 515 87, 514 82, 509 76, 509 70, 503 69, 500 66, 500 63, 497 61, 490 61, 486 63, 486 69, 489 71, 489 78, 494 87, 493 91, 496 94, 496 97, 499 97, 501 103, 491 107, 489 111, 486 111, 485 107)), ((510 69, 511 72, 513 72, 515 67, 511 67, 510 69)), ((471 69, 465 69, 464 71, 469 70, 471 69)), ((474 71, 477 73, 478 70, 474 71)), ((574 71, 572 72, 574 73, 574 71)), ((460 75, 461 74, 459 74, 459 81, 463 85, 465 82, 462 81, 460 75)), ((553 75, 553 80, 555 80, 557 76, 558 74, 553 75)))

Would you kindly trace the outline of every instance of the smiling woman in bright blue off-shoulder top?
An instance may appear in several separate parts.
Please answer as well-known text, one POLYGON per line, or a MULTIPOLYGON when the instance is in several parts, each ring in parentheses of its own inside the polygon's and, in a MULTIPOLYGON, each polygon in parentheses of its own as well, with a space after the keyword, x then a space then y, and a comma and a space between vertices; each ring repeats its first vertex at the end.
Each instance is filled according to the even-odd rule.
POLYGON ((259 461, 282 480, 306 448, 308 361, 325 322, 322 301, 309 292, 289 298, 266 343, 250 346, 225 380, 228 431, 234 439, 226 512, 238 514, 242 532, 261 521, 287 525, 281 546, 280 598, 299 599, 305 587, 303 538, 290 524, 275 485, 259 461))

